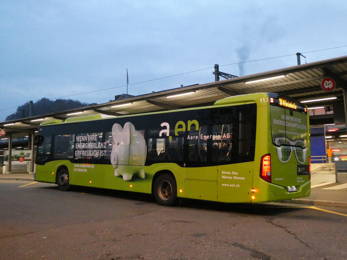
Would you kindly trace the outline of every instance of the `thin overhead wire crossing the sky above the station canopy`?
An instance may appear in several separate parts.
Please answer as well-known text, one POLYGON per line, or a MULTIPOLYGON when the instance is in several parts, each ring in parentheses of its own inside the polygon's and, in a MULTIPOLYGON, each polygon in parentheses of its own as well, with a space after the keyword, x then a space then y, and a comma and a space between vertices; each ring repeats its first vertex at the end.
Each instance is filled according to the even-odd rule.
MULTIPOLYGON (((338 49, 338 48, 343 48, 343 47, 347 47, 347 45, 339 46, 339 47, 332 47, 332 48, 327 48, 327 49, 321 49, 321 50, 315 50, 315 51, 301 52, 301 53, 312 53, 312 52, 318 52, 318 51, 326 51, 326 50, 338 49)), ((225 64, 225 65, 219 65, 219 67, 230 66, 230 65, 237 65, 237 64, 248 63, 248 62, 255 62, 255 61, 262 61, 262 60, 277 59, 277 58, 282 58, 282 57, 288 57, 288 56, 291 56, 291 55, 296 55, 296 53, 295 54, 281 55, 281 56, 276 56, 276 57, 271 57, 271 58, 264 58, 264 59, 250 60, 250 61, 235 62, 235 63, 225 64)), ((147 83, 147 82, 160 80, 160 79, 176 77, 176 76, 180 76, 180 75, 185 75, 185 74, 189 74, 189 73, 193 73, 193 72, 197 72, 197 71, 202 71, 202 70, 207 70, 207 69, 213 69, 213 68, 214 67, 208 67, 208 68, 204 68, 204 69, 198 69, 198 70, 193 70, 193 71, 189 71, 189 72, 183 72, 183 73, 179 73, 179 74, 175 74, 175 75, 171 75, 171 76, 145 80, 145 81, 141 81, 141 82, 137 82, 137 83, 127 84, 127 85, 122 85, 122 86, 117 86, 117 87, 111 87, 111 88, 98 89, 98 90, 93 90, 93 91, 88 91, 88 92, 83 92, 83 93, 77 93, 77 94, 72 94, 72 95, 67 95, 67 96, 53 97, 53 98, 49 98, 49 99, 52 100, 52 99, 58 99, 58 98, 64 98, 64 97, 72 97, 72 96, 78 96, 78 95, 83 95, 83 94, 90 94, 90 93, 95 93, 95 92, 109 90, 109 89, 115 89, 115 88, 120 88, 120 87, 126 87, 126 86, 131 86, 131 85, 147 83)), ((25 105, 26 103, 20 104, 20 105, 16 105, 16 106, 11 106, 11 107, 8 107, 6 109, 1 109, 0 111, 4 111, 4 110, 11 109, 11 108, 14 108, 14 107, 22 106, 22 105, 25 105)))

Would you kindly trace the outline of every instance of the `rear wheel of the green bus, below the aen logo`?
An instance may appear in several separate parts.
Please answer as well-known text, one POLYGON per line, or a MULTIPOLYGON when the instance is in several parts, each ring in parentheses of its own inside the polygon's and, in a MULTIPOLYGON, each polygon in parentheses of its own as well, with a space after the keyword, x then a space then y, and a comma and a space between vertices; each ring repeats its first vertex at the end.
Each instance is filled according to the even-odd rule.
POLYGON ((177 201, 177 184, 171 174, 161 174, 154 182, 154 198, 161 206, 174 206, 177 201))

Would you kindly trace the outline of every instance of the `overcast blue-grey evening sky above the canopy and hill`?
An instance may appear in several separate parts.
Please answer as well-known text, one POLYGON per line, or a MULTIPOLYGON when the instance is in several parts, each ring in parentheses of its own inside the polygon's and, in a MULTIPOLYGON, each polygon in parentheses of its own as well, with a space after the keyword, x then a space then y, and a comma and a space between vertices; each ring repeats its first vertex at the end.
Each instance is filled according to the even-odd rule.
POLYGON ((244 76, 345 56, 346 14, 345 0, 2 0, 0 121, 42 97, 109 102, 127 69, 141 95, 212 82, 215 63, 244 76))

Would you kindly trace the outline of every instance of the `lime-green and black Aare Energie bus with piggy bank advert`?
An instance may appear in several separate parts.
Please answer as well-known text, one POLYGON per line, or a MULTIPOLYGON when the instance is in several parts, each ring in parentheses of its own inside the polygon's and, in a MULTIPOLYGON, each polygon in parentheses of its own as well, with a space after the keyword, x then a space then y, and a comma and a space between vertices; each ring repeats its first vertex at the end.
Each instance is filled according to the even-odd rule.
POLYGON ((256 93, 214 105, 42 123, 34 179, 178 198, 269 202, 311 192, 307 107, 256 93))

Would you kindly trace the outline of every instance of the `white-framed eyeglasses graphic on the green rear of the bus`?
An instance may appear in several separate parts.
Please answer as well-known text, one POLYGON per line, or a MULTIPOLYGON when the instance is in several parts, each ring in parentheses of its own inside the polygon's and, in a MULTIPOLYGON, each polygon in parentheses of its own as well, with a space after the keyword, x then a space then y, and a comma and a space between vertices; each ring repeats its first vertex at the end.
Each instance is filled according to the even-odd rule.
POLYGON ((301 148, 305 146, 305 142, 302 140, 290 141, 285 137, 275 138, 275 144, 277 149, 278 158, 282 163, 287 163, 290 160, 292 151, 295 152, 297 161, 301 164, 306 161, 307 148, 301 148), (295 145, 295 146, 289 146, 295 145), (298 147, 300 146, 300 147, 298 147))

